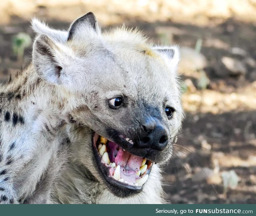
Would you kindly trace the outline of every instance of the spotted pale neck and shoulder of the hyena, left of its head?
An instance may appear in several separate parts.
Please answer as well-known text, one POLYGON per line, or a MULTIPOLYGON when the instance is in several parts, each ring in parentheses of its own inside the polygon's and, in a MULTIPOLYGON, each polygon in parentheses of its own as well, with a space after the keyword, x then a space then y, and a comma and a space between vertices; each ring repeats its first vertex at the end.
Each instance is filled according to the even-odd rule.
POLYGON ((70 143, 64 100, 30 65, 0 87, 0 104, 0 203, 48 202, 70 143))

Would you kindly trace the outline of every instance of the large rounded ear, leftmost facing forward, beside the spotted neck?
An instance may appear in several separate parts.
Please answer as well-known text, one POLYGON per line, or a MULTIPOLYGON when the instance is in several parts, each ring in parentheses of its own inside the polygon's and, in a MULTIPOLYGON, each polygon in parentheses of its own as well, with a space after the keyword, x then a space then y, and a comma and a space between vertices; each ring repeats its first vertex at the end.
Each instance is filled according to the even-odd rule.
POLYGON ((68 48, 53 41, 47 35, 39 35, 33 46, 33 64, 36 73, 51 84, 62 84, 66 78, 63 75, 63 67, 67 65, 71 55, 68 48))

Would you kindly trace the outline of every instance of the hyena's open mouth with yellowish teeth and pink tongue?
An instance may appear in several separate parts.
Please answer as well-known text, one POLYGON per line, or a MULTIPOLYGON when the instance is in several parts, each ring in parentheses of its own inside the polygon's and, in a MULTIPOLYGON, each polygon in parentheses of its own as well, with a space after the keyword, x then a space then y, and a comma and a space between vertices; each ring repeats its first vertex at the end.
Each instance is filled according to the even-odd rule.
MULTIPOLYGON (((124 142, 132 143, 129 138, 121 138, 124 142)), ((150 174, 152 161, 133 155, 96 133, 93 135, 93 146, 98 167, 108 184, 137 192, 142 190, 150 174)))

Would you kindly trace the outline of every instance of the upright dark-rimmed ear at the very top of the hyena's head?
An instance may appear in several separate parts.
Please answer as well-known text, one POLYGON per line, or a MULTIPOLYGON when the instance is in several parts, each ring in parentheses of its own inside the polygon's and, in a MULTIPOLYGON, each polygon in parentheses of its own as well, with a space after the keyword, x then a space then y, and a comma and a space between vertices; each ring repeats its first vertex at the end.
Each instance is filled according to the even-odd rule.
POLYGON ((68 41, 72 40, 74 37, 83 37, 84 35, 88 35, 88 33, 100 33, 96 17, 92 12, 78 18, 71 24, 68 31, 68 41))

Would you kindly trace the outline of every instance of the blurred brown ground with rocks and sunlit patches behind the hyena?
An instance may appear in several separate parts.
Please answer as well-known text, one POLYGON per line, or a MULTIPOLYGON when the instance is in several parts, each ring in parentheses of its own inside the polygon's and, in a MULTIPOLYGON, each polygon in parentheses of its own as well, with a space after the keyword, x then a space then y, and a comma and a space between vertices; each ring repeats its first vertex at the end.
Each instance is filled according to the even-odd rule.
POLYGON ((170 203, 256 203, 256 0, 1 0, 0 81, 31 60, 34 16, 138 27, 179 44, 186 119, 163 167, 170 203))

